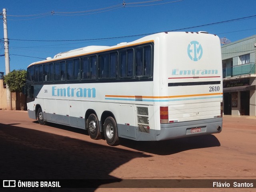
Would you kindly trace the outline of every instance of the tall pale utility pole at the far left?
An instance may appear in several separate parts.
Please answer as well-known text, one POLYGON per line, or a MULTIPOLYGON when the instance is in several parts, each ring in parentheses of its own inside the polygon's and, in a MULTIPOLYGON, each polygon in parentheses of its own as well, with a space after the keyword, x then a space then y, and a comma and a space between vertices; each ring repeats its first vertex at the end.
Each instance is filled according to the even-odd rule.
MULTIPOLYGON (((5 57, 5 74, 10 73, 10 59, 9 59, 9 40, 7 32, 7 19, 6 19, 6 9, 3 9, 3 21, 4 21, 4 57, 5 57)), ((12 94, 8 89, 8 84, 6 84, 6 94, 7 94, 7 110, 12 110, 12 94)))

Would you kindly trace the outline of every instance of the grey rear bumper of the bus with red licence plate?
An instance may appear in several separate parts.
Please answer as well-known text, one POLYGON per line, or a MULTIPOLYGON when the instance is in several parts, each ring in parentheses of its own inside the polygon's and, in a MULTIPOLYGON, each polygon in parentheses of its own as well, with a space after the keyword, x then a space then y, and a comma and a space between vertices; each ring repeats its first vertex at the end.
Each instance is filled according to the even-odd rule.
POLYGON ((156 140, 168 140, 174 138, 190 137, 220 133, 222 131, 222 118, 196 120, 189 122, 177 122, 161 124, 156 131, 156 140))

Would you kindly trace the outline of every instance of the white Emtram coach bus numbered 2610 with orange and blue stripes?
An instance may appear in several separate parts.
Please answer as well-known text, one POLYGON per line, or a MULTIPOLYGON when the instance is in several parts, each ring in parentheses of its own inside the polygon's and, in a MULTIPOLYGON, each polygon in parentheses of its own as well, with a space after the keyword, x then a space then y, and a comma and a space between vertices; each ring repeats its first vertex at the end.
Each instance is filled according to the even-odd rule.
POLYGON ((28 66, 28 115, 92 139, 159 141, 222 130, 218 36, 162 32, 88 46, 28 66))

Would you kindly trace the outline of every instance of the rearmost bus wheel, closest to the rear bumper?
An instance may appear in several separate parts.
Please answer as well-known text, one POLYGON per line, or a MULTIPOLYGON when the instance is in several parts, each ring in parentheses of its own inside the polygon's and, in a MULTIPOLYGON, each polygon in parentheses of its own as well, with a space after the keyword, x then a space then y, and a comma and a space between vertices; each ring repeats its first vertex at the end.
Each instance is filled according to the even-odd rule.
POLYGON ((106 118, 104 122, 104 136, 109 145, 119 144, 116 121, 112 117, 106 118))

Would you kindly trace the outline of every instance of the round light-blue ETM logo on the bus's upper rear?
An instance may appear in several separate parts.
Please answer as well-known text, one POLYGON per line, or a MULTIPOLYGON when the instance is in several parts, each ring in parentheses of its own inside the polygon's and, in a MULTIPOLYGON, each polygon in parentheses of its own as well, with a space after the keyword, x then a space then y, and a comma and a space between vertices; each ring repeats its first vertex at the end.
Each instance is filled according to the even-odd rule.
POLYGON ((192 41, 188 44, 188 56, 192 61, 198 61, 202 58, 203 48, 197 41, 192 41))

